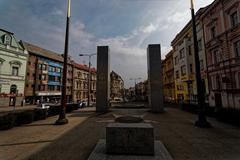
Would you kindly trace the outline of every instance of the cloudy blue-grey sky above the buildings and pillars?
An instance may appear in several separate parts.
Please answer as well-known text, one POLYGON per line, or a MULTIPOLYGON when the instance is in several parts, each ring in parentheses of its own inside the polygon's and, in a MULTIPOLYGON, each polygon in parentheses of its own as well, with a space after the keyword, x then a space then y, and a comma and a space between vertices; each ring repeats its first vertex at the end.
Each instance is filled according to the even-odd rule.
MULTIPOLYGON (((126 87, 130 78, 147 78, 146 48, 160 43, 162 58, 171 40, 190 20, 190 0, 72 0, 70 55, 96 53, 109 45, 111 70, 126 87)), ((195 0, 196 10, 213 0, 195 0)), ((0 0, 0 28, 24 40, 62 53, 67 0, 0 0)), ((96 65, 96 59, 93 59, 96 65)))

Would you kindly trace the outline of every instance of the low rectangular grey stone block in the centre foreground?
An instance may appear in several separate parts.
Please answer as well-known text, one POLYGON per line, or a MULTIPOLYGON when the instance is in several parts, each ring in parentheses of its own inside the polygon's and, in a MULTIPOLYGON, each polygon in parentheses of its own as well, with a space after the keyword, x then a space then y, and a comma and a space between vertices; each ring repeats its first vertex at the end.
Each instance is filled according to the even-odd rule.
POLYGON ((106 127, 106 152, 154 154, 153 126, 149 123, 110 123, 106 127))

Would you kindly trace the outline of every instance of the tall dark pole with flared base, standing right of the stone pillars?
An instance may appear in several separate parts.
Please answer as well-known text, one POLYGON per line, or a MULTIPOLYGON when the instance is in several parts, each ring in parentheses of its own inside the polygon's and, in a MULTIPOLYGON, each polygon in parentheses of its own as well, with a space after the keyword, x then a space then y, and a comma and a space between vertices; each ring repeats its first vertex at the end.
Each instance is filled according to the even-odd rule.
POLYGON ((198 52, 198 41, 197 41, 197 31, 196 31, 196 20, 195 20, 195 12, 194 12, 194 4, 193 0, 191 2, 191 14, 192 14, 192 31, 193 31, 193 44, 194 44, 194 58, 195 58, 195 70, 196 70, 196 84, 197 84, 197 99, 198 99, 198 120, 195 122, 195 126, 201 128, 209 128, 211 124, 207 121, 205 115, 205 98, 203 92, 203 85, 201 80, 201 70, 200 70, 200 62, 199 62, 199 52, 198 52))

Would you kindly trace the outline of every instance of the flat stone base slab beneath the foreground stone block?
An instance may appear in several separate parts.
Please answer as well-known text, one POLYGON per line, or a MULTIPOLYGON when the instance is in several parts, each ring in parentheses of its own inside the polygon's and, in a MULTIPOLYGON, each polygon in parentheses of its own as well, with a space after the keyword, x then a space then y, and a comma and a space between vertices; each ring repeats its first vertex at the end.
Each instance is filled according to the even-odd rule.
POLYGON ((161 141, 155 141, 155 154, 143 155, 109 155, 105 153, 106 142, 104 139, 98 141, 88 160, 173 160, 161 141))

